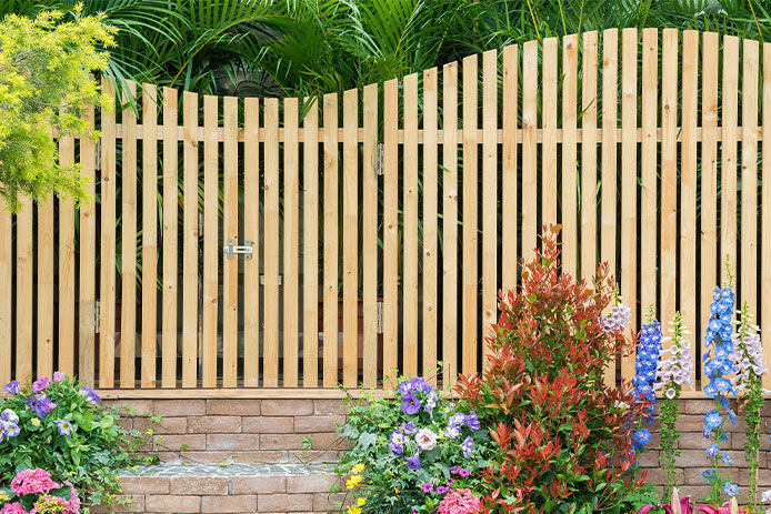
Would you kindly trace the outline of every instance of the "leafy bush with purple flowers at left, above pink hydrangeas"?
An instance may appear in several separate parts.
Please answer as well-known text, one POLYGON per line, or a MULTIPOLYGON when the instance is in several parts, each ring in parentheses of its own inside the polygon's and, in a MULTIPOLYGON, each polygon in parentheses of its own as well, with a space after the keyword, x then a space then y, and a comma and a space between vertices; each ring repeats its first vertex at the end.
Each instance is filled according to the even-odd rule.
POLYGON ((0 482, 21 470, 42 467, 53 480, 90 493, 93 504, 112 503, 116 470, 137 463, 143 441, 118 425, 118 412, 62 373, 24 386, 6 385, 0 401, 0 482))

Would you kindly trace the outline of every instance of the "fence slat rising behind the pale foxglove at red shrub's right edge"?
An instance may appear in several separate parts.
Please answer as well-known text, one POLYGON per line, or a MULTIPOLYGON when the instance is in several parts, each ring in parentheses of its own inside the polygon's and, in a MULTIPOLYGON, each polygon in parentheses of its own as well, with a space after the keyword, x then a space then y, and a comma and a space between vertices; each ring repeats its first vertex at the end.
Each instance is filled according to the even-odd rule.
MULTIPOLYGON (((615 139, 618 128, 619 95, 619 31, 602 32, 602 167, 600 203, 600 260, 607 262, 613 280, 615 274, 615 201, 618 170, 615 139)), ((632 299, 627 299, 631 302, 632 299)), ((617 365, 605 367, 605 384, 615 384, 617 365)))

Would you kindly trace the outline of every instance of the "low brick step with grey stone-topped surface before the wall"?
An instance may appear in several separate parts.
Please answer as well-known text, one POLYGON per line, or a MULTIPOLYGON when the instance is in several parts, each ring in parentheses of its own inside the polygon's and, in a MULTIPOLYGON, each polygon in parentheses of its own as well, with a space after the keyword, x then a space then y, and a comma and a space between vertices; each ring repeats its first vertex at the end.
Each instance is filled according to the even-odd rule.
POLYGON ((112 512, 308 513, 338 512, 344 494, 330 494, 338 482, 324 464, 163 464, 120 473, 128 505, 112 512))

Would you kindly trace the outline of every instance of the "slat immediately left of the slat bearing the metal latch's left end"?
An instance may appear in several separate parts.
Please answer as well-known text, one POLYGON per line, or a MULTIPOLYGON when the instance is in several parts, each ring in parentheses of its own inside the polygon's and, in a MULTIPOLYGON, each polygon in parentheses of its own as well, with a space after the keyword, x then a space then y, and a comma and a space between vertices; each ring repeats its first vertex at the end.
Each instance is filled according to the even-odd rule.
POLYGON ((217 386, 219 302, 219 99, 203 97, 203 316, 201 370, 203 387, 217 386))

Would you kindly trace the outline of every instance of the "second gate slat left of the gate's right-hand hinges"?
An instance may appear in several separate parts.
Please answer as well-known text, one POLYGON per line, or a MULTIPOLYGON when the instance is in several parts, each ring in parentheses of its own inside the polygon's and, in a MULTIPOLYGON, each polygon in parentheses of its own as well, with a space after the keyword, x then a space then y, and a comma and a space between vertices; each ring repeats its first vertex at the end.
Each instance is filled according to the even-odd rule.
POLYGON ((359 263, 359 94, 343 93, 342 137, 342 383, 357 384, 359 370, 358 263, 359 263))

